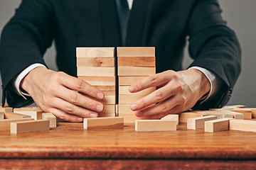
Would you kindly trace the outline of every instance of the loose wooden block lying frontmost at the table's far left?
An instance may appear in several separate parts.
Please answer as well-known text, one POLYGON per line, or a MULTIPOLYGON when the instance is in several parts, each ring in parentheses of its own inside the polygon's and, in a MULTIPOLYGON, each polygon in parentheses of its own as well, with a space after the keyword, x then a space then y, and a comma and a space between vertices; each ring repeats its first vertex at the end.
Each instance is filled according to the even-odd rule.
POLYGON ((40 132, 50 130, 50 120, 30 120, 11 123, 11 133, 40 132))

